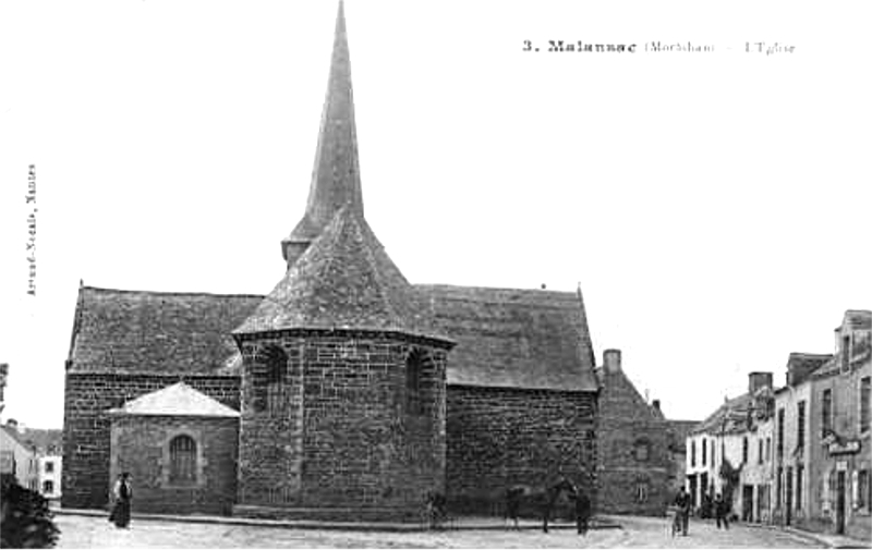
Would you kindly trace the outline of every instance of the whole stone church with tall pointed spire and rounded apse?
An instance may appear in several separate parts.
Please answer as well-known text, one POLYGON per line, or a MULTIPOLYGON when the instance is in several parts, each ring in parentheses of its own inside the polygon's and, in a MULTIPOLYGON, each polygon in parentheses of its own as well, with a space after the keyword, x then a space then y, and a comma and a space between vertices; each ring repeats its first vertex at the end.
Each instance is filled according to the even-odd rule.
POLYGON ((581 293, 407 281, 364 216, 341 3, 281 252, 266 295, 80 288, 63 506, 105 508, 120 472, 138 512, 397 520, 436 491, 494 513, 560 475, 595 492, 581 293))

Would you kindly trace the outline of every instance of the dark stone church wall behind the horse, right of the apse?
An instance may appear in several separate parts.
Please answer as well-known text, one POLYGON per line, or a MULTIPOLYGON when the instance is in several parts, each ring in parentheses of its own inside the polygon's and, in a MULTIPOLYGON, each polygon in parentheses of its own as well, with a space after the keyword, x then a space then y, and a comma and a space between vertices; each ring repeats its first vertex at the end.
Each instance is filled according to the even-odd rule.
POLYGON ((502 514, 508 487, 535 492, 560 474, 595 500, 595 392, 450 386, 447 410, 452 510, 502 514))

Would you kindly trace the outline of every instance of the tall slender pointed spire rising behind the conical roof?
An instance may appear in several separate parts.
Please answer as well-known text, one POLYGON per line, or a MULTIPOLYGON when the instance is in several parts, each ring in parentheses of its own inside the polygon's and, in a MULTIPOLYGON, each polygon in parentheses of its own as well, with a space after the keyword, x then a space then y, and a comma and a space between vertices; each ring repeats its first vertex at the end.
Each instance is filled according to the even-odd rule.
POLYGON ((281 242, 281 252, 289 268, 346 205, 351 212, 363 216, 351 60, 344 8, 340 0, 306 211, 291 234, 281 242))

